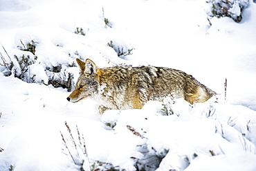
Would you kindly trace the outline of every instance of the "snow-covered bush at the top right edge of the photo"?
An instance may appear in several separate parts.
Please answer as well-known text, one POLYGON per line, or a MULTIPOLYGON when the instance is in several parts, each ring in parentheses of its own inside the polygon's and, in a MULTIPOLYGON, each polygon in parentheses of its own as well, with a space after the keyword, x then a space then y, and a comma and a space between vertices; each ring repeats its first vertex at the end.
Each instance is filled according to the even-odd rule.
POLYGON ((248 6, 248 0, 208 0, 210 17, 230 17, 237 23, 242 19, 241 13, 248 6))

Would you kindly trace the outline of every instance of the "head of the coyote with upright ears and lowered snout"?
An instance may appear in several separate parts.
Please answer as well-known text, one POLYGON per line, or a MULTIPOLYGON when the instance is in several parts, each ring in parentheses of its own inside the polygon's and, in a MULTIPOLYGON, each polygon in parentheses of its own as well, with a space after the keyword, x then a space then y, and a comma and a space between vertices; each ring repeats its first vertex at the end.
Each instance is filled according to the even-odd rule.
POLYGON ((95 66, 95 63, 90 59, 81 61, 76 59, 80 67, 80 77, 75 85, 75 90, 66 98, 73 103, 80 101, 87 97, 93 97, 99 91, 99 75, 100 70, 95 66))

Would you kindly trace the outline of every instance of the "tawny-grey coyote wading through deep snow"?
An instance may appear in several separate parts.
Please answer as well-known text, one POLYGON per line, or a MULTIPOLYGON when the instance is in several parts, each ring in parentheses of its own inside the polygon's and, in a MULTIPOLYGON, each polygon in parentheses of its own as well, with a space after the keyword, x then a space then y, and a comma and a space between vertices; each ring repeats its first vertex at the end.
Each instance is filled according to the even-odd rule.
POLYGON ((141 109, 149 100, 183 97, 190 104, 208 101, 215 93, 192 75, 180 70, 154 66, 113 66, 98 68, 93 61, 76 59, 80 77, 66 98, 77 102, 95 99, 103 108, 141 109))

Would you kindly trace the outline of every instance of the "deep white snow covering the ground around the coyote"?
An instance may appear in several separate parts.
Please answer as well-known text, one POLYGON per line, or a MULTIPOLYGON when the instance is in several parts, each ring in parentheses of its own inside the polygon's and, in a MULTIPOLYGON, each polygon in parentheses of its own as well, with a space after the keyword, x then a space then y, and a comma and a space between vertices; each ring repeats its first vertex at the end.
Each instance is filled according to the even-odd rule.
POLYGON ((0 66, 0 170, 256 170, 256 4, 240 23, 212 26, 207 9, 204 0, 0 0, 0 63, 14 63, 9 77, 0 66), (111 42, 133 54, 118 57, 111 42), (27 43, 34 83, 14 76, 15 55, 34 57, 21 50, 27 43), (67 73, 76 81, 77 57, 183 70, 218 103, 175 99, 164 116, 163 103, 149 101, 101 115, 95 101, 70 103, 67 89, 44 84, 67 73))

